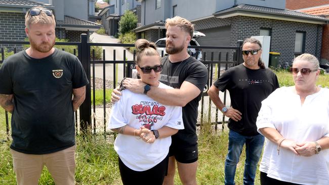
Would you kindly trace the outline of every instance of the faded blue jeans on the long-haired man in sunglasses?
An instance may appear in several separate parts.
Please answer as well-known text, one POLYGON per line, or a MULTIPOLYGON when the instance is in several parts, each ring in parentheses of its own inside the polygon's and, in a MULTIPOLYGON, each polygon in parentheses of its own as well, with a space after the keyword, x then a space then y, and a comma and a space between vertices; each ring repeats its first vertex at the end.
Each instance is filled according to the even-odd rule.
POLYGON ((230 129, 228 137, 228 153, 225 160, 225 185, 234 185, 236 164, 245 144, 245 164, 243 173, 243 184, 253 185, 257 163, 262 154, 264 136, 244 136, 230 129))

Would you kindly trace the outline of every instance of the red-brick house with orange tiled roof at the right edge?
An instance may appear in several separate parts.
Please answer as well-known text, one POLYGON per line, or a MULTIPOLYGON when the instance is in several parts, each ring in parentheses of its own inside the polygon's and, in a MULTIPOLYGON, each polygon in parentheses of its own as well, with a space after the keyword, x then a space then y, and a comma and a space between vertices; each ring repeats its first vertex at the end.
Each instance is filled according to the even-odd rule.
MULTIPOLYGON (((287 9, 329 19, 329 0, 286 0, 287 9)), ((329 24, 323 25, 321 64, 329 65, 329 24)))

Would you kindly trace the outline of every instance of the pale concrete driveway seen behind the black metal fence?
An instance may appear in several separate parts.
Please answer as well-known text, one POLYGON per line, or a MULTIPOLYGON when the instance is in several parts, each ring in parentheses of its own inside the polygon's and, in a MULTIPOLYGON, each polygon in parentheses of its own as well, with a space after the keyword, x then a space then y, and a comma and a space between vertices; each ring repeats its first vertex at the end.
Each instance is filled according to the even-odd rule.
MULTIPOLYGON (((118 43, 119 39, 114 38, 113 36, 100 35, 94 32, 90 35, 90 42, 94 43, 118 43)), ((124 60, 124 47, 102 47, 105 50, 105 60, 113 60, 113 51, 115 50, 115 60, 124 60)), ((126 50, 127 60, 133 60, 134 55, 126 50)), ((124 65, 117 64, 117 81, 120 82, 124 78, 124 65)), ((93 68, 91 66, 92 76, 103 78, 103 64, 95 64, 95 75, 93 74, 93 68)), ((105 65, 105 79, 113 80, 113 64, 105 65)))

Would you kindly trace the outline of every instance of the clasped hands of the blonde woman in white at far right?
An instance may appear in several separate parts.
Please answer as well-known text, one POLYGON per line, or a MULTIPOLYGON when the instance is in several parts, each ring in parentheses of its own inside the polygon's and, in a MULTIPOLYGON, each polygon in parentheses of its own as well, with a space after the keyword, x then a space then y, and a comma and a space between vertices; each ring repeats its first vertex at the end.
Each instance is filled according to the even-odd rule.
POLYGON ((308 156, 312 156, 315 154, 316 145, 314 142, 297 143, 292 140, 284 140, 281 143, 281 148, 290 150, 293 153, 295 153, 296 155, 308 157, 308 156))

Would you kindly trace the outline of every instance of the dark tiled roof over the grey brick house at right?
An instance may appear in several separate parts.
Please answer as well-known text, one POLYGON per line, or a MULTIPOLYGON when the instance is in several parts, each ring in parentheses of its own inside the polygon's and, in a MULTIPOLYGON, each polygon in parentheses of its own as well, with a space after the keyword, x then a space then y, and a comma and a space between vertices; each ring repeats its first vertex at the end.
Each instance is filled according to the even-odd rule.
POLYGON ((326 22, 329 22, 329 19, 326 19, 324 17, 305 14, 293 10, 282 10, 245 4, 240 4, 238 6, 216 12, 213 15, 218 18, 227 18, 241 15, 312 24, 326 24, 326 22))

